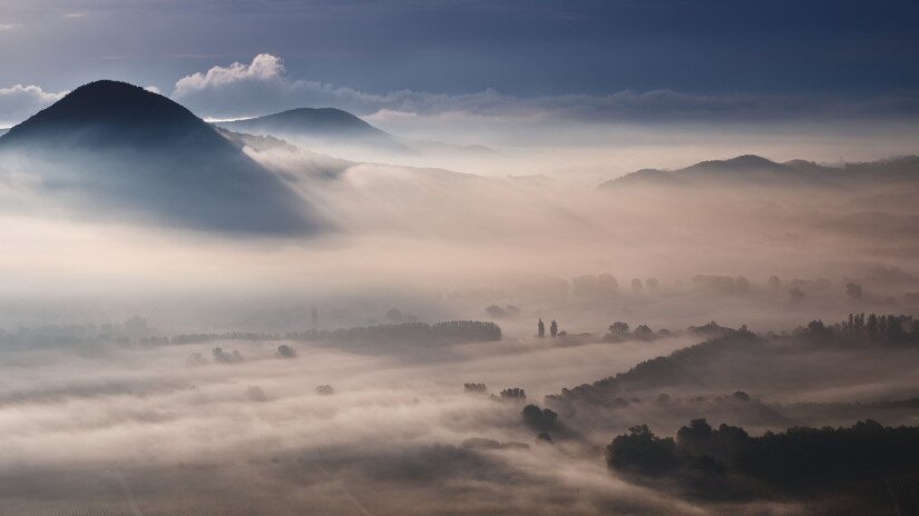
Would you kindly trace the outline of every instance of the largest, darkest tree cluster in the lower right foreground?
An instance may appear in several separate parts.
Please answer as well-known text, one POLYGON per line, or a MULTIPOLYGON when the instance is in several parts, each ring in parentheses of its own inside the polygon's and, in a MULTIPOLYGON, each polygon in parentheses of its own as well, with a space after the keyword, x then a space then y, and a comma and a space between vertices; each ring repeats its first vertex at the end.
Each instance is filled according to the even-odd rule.
POLYGON ((659 475, 695 469, 746 475, 784 486, 833 475, 878 475, 908 470, 919 464, 919 427, 884 427, 873 420, 851 427, 793 427, 751 437, 736 426, 713 428, 694 419, 676 440, 636 426, 607 447, 615 469, 659 475))

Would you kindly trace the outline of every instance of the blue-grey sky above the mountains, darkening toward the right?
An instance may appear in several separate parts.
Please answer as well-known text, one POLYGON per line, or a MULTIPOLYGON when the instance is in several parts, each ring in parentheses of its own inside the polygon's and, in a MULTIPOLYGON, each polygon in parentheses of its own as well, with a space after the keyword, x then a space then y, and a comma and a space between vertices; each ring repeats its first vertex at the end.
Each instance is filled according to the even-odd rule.
POLYGON ((324 103, 912 121, 917 22, 892 0, 4 0, 0 121, 99 78, 213 118, 324 103), (188 79, 234 63, 254 71, 188 79))

